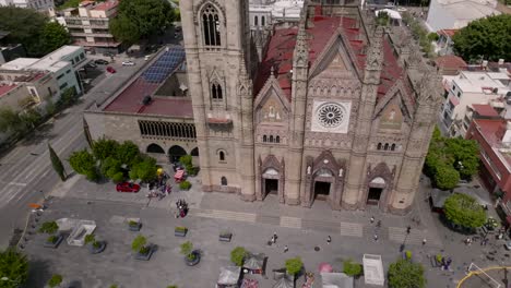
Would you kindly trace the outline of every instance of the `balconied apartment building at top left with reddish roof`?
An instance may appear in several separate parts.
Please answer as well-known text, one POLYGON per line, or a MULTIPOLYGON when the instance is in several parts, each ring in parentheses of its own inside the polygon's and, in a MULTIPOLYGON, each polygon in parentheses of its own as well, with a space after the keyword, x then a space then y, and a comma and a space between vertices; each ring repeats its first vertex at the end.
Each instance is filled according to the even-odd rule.
POLYGON ((120 43, 110 34, 109 21, 117 14, 117 0, 83 1, 78 8, 63 10, 58 22, 68 27, 74 45, 96 53, 117 53, 120 43))

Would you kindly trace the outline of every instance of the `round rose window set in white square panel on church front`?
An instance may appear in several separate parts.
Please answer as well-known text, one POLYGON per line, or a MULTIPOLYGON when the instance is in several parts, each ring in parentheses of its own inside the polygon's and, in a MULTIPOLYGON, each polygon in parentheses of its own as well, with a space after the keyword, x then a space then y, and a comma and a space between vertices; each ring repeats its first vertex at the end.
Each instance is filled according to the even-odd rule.
POLYGON ((349 101, 314 101, 311 131, 347 133, 350 108, 349 101))

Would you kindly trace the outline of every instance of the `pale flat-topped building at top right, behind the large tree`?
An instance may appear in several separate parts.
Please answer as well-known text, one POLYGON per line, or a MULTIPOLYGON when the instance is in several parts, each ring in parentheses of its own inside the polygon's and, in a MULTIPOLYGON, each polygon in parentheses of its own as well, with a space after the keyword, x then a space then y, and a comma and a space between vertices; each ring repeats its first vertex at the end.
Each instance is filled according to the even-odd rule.
POLYGON ((432 32, 460 29, 470 22, 498 15, 497 0, 431 0, 426 25, 432 32))

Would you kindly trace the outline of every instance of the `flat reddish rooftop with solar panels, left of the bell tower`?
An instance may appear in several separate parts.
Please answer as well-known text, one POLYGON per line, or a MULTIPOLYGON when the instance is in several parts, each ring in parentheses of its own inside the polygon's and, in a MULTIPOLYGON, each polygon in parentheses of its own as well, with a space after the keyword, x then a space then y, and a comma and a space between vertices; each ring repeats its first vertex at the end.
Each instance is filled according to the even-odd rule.
POLYGON ((185 61, 182 47, 169 47, 144 69, 126 89, 108 103, 103 111, 193 119, 190 97, 154 96, 168 76, 181 70, 185 61), (143 104, 146 96, 152 96, 148 105, 143 104))

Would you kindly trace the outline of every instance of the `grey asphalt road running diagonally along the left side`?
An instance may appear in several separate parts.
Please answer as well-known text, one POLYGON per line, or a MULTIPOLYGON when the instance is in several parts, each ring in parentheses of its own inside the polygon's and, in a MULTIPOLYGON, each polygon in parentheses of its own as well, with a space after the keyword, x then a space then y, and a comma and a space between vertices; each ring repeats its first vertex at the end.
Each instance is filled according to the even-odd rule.
MULTIPOLYGON (((51 167, 47 143, 51 144, 64 163, 67 171, 71 172, 66 159, 73 151, 87 146, 83 133, 83 110, 94 101, 103 103, 145 64, 143 59, 130 59, 136 65, 122 67, 122 60, 117 59, 115 63, 110 63, 117 73, 105 73, 96 77, 93 81, 95 86, 81 97, 78 105, 68 108, 1 155, 0 248, 9 244, 14 228, 24 228, 31 211, 28 204, 41 201, 44 193, 51 191, 60 181, 51 167)), ((105 67, 98 69, 104 70, 105 67)))

